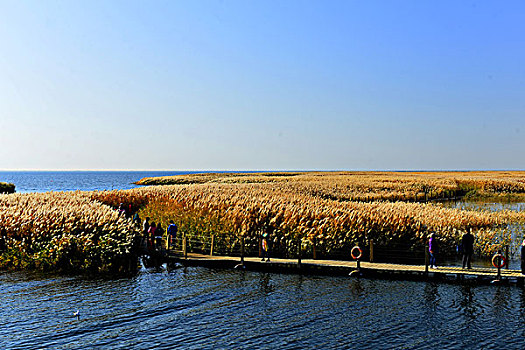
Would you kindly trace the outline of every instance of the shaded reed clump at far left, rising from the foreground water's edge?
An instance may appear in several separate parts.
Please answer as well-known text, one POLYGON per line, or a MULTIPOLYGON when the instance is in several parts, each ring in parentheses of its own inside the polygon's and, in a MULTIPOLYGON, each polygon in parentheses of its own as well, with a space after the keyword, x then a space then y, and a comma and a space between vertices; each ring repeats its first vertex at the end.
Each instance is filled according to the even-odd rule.
POLYGON ((0 228, 0 268, 76 272, 134 268, 129 264, 137 254, 133 223, 86 193, 0 196, 0 228))

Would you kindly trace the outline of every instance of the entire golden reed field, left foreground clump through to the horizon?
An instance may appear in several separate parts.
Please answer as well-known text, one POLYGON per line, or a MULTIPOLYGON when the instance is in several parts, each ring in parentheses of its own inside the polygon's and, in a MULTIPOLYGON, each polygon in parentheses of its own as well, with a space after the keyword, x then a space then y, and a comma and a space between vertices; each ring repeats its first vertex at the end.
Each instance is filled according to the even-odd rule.
MULTIPOLYGON (((132 269, 140 227, 115 210, 169 220, 216 251, 257 254, 271 235, 275 254, 326 257, 355 244, 422 251, 430 233, 453 253, 472 229, 488 256, 525 234, 525 212, 446 208, 445 198, 525 202, 525 172, 296 172, 196 174, 143 179, 134 190, 0 195, 0 267, 54 270, 132 269), (158 185, 161 184, 161 185, 158 185), (132 265, 132 264, 131 264, 132 265)), ((191 247, 190 247, 191 248, 191 247)), ((135 263, 136 265, 136 263, 135 263)))

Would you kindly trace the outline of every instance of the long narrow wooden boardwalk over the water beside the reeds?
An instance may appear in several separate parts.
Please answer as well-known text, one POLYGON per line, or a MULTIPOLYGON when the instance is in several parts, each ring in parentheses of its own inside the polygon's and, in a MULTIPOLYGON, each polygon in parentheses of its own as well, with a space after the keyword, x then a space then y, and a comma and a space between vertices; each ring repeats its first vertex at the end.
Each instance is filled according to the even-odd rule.
POLYGON ((166 255, 168 262, 177 262, 182 265, 205 266, 211 268, 242 268, 253 271, 267 271, 278 273, 318 274, 332 276, 362 276, 369 278, 406 279, 406 280, 441 280, 450 282, 469 282, 479 284, 516 284, 524 285, 525 275, 519 270, 501 269, 501 276, 497 280, 497 269, 489 267, 474 267, 463 269, 457 266, 443 266, 426 268, 425 265, 402 265, 387 263, 360 262, 341 260, 313 260, 313 259, 271 259, 261 261, 257 257, 245 257, 243 262, 239 257, 210 256, 188 253, 185 257, 182 252, 170 251, 166 255), (496 283, 494 283, 494 281, 496 283))

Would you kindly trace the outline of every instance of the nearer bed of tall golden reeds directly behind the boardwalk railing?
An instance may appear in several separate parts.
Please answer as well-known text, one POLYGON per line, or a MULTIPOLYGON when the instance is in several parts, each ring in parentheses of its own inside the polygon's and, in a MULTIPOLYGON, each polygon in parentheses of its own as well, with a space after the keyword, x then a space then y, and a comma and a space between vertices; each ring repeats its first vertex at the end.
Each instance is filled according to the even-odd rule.
MULTIPOLYGON (((113 196, 125 196, 115 191, 113 196)), ((408 247, 422 251, 427 237, 436 232, 443 251, 452 253, 462 232, 472 229, 478 236, 480 255, 512 239, 509 223, 523 225, 525 214, 444 208, 430 203, 354 202, 322 198, 290 183, 156 186, 139 190, 149 198, 141 216, 167 223, 176 221, 192 237, 215 235, 217 244, 233 251, 244 237, 256 250, 263 232, 284 254, 297 252, 298 244, 309 251, 316 247, 327 255, 348 250, 354 244, 378 248, 408 247)), ((519 228, 523 234, 523 226, 519 228)))

